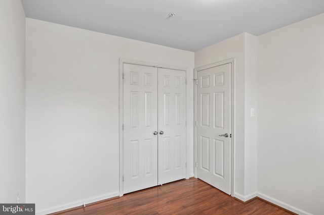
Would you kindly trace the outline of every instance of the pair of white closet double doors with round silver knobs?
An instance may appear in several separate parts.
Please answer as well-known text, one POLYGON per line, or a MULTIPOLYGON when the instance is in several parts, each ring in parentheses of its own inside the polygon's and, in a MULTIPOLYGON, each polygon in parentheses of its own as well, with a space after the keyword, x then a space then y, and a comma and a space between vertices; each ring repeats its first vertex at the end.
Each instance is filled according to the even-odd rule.
POLYGON ((123 66, 124 194, 184 179, 185 72, 123 66))

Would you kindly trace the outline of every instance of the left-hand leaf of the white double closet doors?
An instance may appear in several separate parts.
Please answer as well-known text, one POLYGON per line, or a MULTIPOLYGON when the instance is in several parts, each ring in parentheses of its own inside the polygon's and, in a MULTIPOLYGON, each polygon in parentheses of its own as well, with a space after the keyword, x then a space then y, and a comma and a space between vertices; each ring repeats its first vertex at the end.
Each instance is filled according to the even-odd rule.
POLYGON ((124 193, 157 185, 157 68, 124 64, 124 193))

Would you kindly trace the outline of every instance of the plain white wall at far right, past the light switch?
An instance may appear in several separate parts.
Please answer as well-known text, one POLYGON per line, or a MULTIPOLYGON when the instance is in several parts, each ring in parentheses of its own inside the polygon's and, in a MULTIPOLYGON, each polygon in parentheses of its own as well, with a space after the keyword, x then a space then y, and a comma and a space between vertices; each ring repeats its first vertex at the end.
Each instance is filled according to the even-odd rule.
POLYGON ((258 38, 258 192, 323 214, 324 14, 258 38))

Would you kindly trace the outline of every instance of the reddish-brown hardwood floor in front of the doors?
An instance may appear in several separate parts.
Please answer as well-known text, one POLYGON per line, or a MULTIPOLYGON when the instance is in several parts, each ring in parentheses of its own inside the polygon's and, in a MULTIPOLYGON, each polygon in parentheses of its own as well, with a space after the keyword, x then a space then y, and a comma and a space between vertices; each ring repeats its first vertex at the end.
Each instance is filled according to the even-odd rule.
POLYGON ((293 214, 261 199, 242 203, 195 178, 53 214, 293 214))

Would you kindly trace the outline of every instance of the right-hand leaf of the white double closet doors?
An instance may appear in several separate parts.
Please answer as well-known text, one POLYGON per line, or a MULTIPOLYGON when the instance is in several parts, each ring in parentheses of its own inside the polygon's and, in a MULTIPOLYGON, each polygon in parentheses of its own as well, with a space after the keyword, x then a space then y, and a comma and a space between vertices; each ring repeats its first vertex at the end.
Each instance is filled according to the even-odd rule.
POLYGON ((158 69, 158 183, 186 178, 186 74, 158 69))

